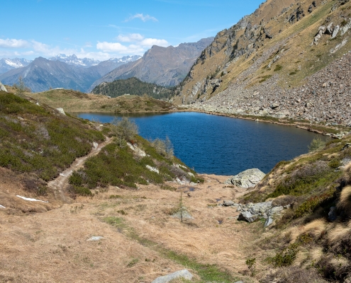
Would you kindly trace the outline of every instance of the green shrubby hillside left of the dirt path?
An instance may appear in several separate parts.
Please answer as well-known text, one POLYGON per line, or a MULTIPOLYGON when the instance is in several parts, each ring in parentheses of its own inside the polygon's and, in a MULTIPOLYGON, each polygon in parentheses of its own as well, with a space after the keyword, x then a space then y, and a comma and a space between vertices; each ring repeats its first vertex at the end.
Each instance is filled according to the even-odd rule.
POLYGON ((104 135, 57 110, 35 105, 11 93, 0 93, 0 166, 55 178, 75 158, 86 155, 104 135))

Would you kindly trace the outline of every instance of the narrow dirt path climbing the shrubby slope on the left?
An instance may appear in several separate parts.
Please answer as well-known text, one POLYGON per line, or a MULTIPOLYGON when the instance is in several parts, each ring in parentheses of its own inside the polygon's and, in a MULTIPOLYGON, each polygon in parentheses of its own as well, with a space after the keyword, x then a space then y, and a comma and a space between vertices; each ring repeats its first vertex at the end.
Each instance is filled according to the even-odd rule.
POLYGON ((72 163, 72 165, 69 166, 69 168, 67 168, 65 171, 60 173, 60 175, 57 178, 55 178, 54 180, 48 183, 48 187, 51 187, 52 189, 54 189, 55 197, 57 199, 60 199, 63 202, 69 202, 69 198, 65 195, 65 188, 68 185, 69 176, 72 175, 73 171, 76 171, 77 169, 82 167, 84 162, 87 160, 87 158, 91 156, 96 156, 96 154, 99 154, 101 149, 109 143, 111 143, 111 139, 106 137, 106 141, 99 144, 99 146, 97 146, 96 149, 93 148, 86 156, 77 158, 72 163))

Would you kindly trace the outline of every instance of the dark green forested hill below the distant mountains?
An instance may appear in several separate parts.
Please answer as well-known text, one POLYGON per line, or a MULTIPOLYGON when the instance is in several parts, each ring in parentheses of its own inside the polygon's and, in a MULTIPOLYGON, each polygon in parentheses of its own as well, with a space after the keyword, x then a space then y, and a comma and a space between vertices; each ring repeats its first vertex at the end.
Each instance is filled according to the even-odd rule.
POLYGON ((128 93, 134 96, 147 95, 157 99, 168 99, 173 95, 173 91, 169 88, 157 86, 155 83, 146 83, 137 78, 118 79, 111 83, 100 83, 99 86, 95 86, 92 93, 111 97, 123 96, 128 93))

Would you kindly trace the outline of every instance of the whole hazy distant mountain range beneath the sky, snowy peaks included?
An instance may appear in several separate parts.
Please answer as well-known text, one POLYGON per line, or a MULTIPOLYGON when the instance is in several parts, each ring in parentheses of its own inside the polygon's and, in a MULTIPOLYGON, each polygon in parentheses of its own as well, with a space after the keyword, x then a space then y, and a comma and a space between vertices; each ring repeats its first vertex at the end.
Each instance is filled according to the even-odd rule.
POLYGON ((7 60, 4 62, 8 62, 6 68, 9 71, 4 69, 6 73, 0 74, 0 81, 12 86, 21 77, 33 92, 47 91, 50 88, 91 92, 99 83, 131 77, 160 86, 177 86, 212 41, 213 37, 208 37, 198 42, 182 43, 177 47, 154 45, 141 58, 134 55, 103 62, 80 59, 74 54, 58 54, 50 59, 39 57, 32 62, 25 59, 7 60))

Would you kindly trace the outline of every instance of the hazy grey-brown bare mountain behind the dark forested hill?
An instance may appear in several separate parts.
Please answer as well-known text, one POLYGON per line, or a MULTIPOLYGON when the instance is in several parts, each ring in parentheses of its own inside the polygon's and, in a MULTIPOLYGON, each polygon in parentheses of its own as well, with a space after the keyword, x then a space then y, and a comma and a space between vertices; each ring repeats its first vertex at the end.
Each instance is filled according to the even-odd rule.
POLYGON ((182 43, 177 47, 154 45, 142 58, 119 67, 95 81, 89 91, 104 81, 111 82, 133 76, 160 86, 176 86, 184 79, 199 54, 212 41, 213 37, 208 37, 198 42, 182 43))

